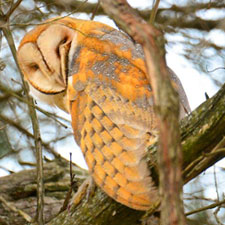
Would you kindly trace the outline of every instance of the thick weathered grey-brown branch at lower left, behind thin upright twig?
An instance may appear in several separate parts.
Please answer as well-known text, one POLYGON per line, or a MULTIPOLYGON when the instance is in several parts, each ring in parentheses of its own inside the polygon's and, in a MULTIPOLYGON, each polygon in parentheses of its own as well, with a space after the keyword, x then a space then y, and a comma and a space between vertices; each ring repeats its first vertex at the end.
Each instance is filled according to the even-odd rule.
MULTIPOLYGON (((86 171, 74 166, 73 172, 79 185, 86 176, 86 171)), ((24 170, 0 178, 0 224, 25 224, 28 222, 27 217, 24 216, 26 214, 34 219, 37 204, 36 173, 36 169, 24 170)), ((63 159, 44 165, 46 222, 55 217, 63 205, 70 186, 68 174, 69 162, 63 159)))

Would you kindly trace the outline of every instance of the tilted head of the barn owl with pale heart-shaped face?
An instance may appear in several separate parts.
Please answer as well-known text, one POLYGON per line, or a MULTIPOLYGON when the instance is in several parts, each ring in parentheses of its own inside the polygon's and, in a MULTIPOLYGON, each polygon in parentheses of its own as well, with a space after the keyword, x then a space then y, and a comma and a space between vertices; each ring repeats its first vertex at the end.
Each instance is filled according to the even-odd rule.
POLYGON ((68 63, 77 44, 76 22, 72 18, 46 21, 24 36, 17 52, 32 94, 65 111, 68 63))

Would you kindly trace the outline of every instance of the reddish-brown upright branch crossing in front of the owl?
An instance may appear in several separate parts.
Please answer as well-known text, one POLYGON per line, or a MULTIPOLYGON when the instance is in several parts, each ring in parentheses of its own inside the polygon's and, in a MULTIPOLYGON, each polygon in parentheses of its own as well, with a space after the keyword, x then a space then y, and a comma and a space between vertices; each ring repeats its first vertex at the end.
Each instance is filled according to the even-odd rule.
POLYGON ((165 61, 164 39, 148 25, 125 0, 102 0, 102 7, 117 25, 142 44, 153 89, 159 128, 158 168, 162 225, 185 225, 182 197, 182 151, 179 133, 179 100, 172 87, 165 61), (169 204, 168 204, 169 203, 169 204))

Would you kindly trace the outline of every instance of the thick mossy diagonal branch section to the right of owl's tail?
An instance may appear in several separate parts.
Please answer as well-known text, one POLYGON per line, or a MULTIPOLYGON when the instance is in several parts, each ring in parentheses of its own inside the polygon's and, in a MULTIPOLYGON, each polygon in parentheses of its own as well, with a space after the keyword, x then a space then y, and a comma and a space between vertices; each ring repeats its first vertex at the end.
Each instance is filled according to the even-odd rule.
MULTIPOLYGON (((185 183, 225 157, 215 147, 225 136, 225 85, 181 122, 183 177, 185 183), (207 154, 208 153, 208 154, 207 154), (209 154, 213 153, 213 154, 209 154), (198 167, 198 169, 196 169, 198 167), (193 173, 194 171, 194 173, 193 173)), ((222 148, 219 145, 219 148, 222 148)), ((149 162, 157 168, 157 145, 150 147, 149 162)), ((149 165, 151 164, 149 163, 149 165)), ((157 169, 154 169, 157 177, 157 169)))

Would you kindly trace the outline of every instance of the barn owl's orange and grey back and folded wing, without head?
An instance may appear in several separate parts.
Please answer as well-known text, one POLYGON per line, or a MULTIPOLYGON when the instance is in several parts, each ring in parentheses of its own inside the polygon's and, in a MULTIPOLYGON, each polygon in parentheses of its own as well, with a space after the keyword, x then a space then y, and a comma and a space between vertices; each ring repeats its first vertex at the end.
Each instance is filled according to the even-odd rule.
POLYGON ((98 186, 147 210, 158 194, 144 156, 157 129, 141 46, 107 26, 77 43, 67 90, 76 142, 98 186))

